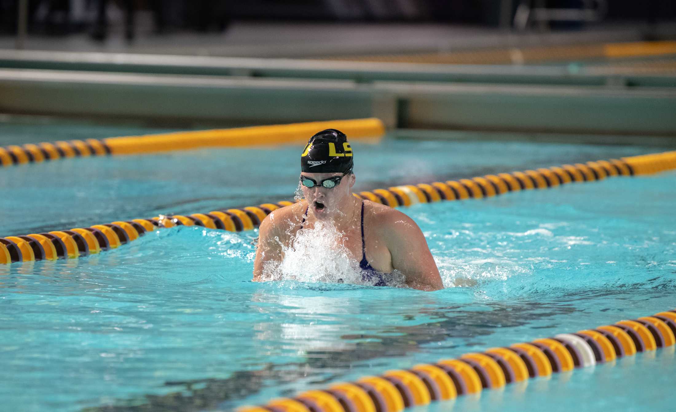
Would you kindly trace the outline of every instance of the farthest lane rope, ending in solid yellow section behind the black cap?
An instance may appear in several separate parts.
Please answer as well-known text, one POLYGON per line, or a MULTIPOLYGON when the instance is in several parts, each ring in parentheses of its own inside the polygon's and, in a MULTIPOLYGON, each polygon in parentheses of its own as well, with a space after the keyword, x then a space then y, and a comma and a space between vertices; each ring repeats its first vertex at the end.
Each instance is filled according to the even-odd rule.
POLYGON ((301 144, 306 143, 308 136, 314 135, 316 131, 329 128, 345 131, 351 140, 379 138, 385 135, 385 126, 381 120, 364 118, 109 137, 107 139, 55 141, 53 143, 26 143, 21 146, 0 147, 0 166, 41 163, 62 158, 149 154, 201 147, 301 144))

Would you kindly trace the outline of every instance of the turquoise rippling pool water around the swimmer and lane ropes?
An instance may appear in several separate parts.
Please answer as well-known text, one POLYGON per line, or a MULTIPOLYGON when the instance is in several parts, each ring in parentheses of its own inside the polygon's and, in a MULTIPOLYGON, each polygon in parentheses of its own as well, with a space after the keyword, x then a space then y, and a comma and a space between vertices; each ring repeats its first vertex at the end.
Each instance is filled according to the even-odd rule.
MULTIPOLYGON (((353 146, 362 189, 658 151, 353 146)), ((297 152, 202 150, 5 168, 0 235, 281 200, 297 185, 297 152)), ((252 283, 256 233, 200 227, 148 233, 79 260, 1 266, 0 400, 22 411, 227 410, 675 308, 675 200, 676 173, 665 173, 404 208, 447 286, 431 293, 252 283)), ((673 349, 658 350, 453 406, 666 410, 676 401, 667 386, 675 366, 673 349)))

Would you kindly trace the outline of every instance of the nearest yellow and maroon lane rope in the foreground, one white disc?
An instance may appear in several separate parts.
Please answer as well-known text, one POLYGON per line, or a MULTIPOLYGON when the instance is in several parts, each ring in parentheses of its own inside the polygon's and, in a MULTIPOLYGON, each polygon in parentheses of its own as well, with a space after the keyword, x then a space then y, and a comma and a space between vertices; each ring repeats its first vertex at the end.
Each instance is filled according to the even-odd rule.
POLYGON ((666 348, 676 343, 675 334, 676 311, 665 311, 596 329, 470 352, 458 359, 441 359, 408 370, 395 369, 356 382, 301 392, 294 398, 276 398, 262 406, 240 407, 237 412, 399 412, 429 405, 433 400, 452 400, 531 377, 548 377, 666 348))

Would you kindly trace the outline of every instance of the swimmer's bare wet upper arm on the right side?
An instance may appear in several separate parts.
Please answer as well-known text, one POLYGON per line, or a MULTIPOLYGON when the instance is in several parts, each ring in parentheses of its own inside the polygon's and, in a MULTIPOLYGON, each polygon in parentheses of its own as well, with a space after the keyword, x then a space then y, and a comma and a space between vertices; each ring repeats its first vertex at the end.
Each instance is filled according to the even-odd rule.
POLYGON ((406 285, 418 290, 443 289, 439 269, 427 247, 423 231, 410 217, 397 210, 387 225, 387 246, 392 267, 406 277, 406 285))

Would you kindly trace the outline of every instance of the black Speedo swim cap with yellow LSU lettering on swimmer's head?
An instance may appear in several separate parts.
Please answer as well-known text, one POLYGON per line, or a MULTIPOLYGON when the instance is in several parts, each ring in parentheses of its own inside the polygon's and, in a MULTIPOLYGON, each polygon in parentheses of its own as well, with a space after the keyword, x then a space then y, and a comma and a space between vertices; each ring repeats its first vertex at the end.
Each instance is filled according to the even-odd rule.
POLYGON ((310 137, 300 155, 301 171, 306 173, 347 173, 352 170, 352 147, 345 133, 322 130, 310 137))

